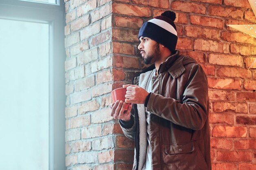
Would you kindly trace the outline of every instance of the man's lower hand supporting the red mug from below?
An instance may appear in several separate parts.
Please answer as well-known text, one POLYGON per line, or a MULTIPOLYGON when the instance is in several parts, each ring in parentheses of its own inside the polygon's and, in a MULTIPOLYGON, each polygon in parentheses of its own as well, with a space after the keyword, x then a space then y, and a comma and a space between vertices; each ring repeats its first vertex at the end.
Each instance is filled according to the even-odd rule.
POLYGON ((111 110, 111 116, 114 119, 121 119, 123 121, 130 121, 130 112, 132 110, 132 104, 129 105, 128 110, 124 110, 124 106, 127 103, 123 102, 123 101, 119 101, 117 100, 117 102, 112 103, 112 105, 110 106, 111 110))

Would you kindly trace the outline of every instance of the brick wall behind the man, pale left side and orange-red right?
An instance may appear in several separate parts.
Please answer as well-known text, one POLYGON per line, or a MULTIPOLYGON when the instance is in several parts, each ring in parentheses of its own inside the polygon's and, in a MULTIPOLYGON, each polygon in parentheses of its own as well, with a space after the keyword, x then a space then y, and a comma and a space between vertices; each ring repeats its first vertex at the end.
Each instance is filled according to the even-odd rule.
POLYGON ((247 0, 65 0, 66 166, 131 170, 133 142, 110 117, 110 91, 145 67, 143 22, 175 11, 177 49, 208 76, 213 170, 256 169, 256 39, 226 24, 254 24, 247 0))

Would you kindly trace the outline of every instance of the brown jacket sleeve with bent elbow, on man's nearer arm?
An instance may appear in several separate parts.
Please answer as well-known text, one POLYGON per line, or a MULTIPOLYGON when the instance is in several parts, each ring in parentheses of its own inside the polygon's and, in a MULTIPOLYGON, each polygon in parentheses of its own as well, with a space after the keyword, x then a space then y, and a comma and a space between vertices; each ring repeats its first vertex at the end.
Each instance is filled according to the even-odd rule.
POLYGON ((208 117, 208 84, 202 67, 198 64, 191 67, 182 103, 151 93, 147 111, 179 126, 200 130, 208 117))

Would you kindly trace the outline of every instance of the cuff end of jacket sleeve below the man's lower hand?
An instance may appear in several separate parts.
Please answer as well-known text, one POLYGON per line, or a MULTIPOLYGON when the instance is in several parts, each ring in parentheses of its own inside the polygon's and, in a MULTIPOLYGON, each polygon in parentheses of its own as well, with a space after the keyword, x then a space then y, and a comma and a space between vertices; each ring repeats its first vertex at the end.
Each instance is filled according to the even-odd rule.
POLYGON ((121 126, 121 129, 124 132, 124 135, 133 141, 135 140, 136 123, 137 123, 136 119, 132 114, 131 114, 131 119, 128 122, 122 121, 119 119, 119 124, 121 126))

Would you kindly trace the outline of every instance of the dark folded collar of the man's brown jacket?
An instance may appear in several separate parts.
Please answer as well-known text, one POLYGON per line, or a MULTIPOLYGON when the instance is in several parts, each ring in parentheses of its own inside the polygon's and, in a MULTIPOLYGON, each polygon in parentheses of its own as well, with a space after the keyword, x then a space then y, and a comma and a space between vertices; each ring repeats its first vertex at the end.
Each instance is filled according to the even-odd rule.
POLYGON ((182 60, 182 55, 176 50, 175 54, 171 55, 160 64, 158 72, 164 73, 165 71, 168 71, 173 78, 177 78, 185 71, 182 60))

